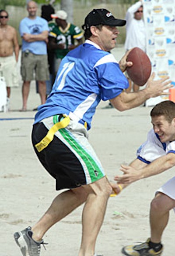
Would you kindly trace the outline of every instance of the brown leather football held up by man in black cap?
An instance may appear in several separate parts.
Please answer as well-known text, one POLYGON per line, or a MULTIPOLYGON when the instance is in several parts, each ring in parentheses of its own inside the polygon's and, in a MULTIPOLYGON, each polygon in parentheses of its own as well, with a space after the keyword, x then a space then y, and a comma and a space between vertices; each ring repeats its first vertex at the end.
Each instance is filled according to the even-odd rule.
POLYGON ((151 61, 147 54, 138 47, 133 48, 126 61, 132 61, 133 66, 127 67, 128 76, 134 84, 143 86, 151 75, 151 61))

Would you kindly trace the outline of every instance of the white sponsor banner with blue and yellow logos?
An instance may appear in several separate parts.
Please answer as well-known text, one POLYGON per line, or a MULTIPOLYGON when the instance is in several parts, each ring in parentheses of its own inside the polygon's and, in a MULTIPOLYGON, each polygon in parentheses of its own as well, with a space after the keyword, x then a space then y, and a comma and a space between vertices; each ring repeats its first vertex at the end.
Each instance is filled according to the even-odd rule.
MULTIPOLYGON (((155 79, 169 76, 175 87, 175 0, 143 0, 143 5, 147 55, 155 79)), ((173 95, 149 99, 146 106, 154 106, 166 99, 175 101, 173 95)))

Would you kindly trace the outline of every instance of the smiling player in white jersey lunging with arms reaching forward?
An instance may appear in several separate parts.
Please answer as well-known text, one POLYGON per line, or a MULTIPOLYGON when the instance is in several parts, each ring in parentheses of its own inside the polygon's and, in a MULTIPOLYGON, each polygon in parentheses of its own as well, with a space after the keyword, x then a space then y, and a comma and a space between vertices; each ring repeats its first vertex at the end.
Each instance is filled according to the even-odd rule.
MULTIPOLYGON (((151 110, 153 129, 147 141, 137 150, 137 159, 130 166, 122 165, 123 176, 116 176, 120 186, 126 187, 139 179, 144 179, 175 166, 175 103, 165 101, 151 110)), ((141 245, 128 245, 122 252, 128 256, 160 256, 163 252, 161 237, 168 224, 169 212, 175 210, 175 177, 168 180, 151 202, 151 237, 141 245)))

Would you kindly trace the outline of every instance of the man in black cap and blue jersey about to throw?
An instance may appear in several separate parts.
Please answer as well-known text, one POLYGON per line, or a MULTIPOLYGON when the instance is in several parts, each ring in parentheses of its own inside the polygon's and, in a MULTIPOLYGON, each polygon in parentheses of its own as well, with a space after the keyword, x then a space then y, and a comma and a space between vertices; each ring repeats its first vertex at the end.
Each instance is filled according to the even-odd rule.
POLYGON ((32 131, 35 153, 56 179, 56 190, 67 190, 53 200, 33 227, 14 234, 29 255, 34 255, 36 248, 35 255, 39 255, 45 232, 83 203, 78 255, 96 255, 95 243, 112 186, 88 142, 95 109, 101 100, 110 100, 117 110, 128 110, 171 87, 168 77, 153 81, 152 75, 144 90, 126 93, 128 81, 123 71, 132 62, 126 62, 125 55, 118 63, 109 53, 119 34, 116 26, 125 24, 108 10, 91 11, 82 26, 85 43, 63 58, 48 99, 38 107, 32 131))

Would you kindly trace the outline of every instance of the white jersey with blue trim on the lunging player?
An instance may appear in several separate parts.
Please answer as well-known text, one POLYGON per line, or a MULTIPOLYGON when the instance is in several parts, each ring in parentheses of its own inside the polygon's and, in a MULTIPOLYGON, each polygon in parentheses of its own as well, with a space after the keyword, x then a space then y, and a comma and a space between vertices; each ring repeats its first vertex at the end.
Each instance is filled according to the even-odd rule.
POLYGON ((161 143, 158 134, 151 129, 151 131, 148 132, 147 141, 137 150, 137 158, 149 164, 158 157, 168 153, 175 154, 175 141, 161 143))

